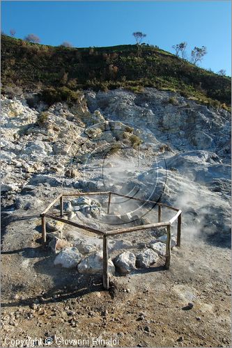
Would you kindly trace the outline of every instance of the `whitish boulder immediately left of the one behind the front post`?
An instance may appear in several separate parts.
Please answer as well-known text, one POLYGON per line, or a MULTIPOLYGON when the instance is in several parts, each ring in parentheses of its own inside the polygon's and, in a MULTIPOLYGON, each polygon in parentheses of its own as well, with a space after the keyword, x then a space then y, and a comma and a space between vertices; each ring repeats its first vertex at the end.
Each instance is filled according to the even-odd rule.
POLYGON ((61 264, 64 268, 77 267, 82 260, 82 254, 77 248, 65 248, 56 256, 54 264, 61 264))

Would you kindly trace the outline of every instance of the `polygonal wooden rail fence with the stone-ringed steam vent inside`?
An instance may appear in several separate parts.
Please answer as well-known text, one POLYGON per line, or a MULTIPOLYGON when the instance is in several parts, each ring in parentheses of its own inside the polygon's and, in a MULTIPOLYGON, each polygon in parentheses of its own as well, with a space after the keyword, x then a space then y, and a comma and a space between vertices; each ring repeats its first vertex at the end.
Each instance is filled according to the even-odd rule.
MULTIPOLYGON (((169 269, 171 249, 180 246, 181 210, 152 200, 111 191, 61 193, 40 216, 42 240, 45 243, 48 238, 48 246, 54 253, 58 253, 54 264, 61 264, 66 268, 77 267, 80 274, 100 273, 103 275, 105 289, 109 289, 110 275, 130 274, 137 268, 160 264, 163 259, 166 269, 169 269), (97 196, 98 200, 93 199, 94 196, 97 196), (56 210, 49 212, 57 201, 59 207, 56 205, 56 210), (142 208, 139 205, 141 203, 142 208), (157 222, 149 223, 148 216, 145 219, 133 215, 132 212, 120 214, 120 210, 125 211, 125 207, 128 206, 133 206, 134 212, 142 209, 144 215, 146 209, 151 206, 157 222), (162 221, 162 209, 171 210, 171 219, 162 221), (86 224, 83 221, 84 215, 88 215, 86 224), (98 219, 99 227, 91 223, 92 216, 98 219), (171 234, 171 225, 176 220, 177 237, 171 234), (72 244, 67 242, 66 226, 69 228, 68 239, 70 226, 76 228, 72 232, 72 244), (91 232, 94 237, 91 237, 91 232)), ((167 214, 164 216, 167 219, 167 214)))

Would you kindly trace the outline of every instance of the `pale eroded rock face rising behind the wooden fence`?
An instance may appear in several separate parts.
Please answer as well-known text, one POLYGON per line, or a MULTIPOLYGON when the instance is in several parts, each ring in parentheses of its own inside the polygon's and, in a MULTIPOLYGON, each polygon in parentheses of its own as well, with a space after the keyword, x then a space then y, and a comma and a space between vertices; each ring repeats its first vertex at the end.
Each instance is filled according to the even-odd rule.
MULTIPOLYGON (((154 88, 145 88, 139 95, 126 90, 86 91, 85 98, 82 105, 71 108, 56 103, 45 110, 45 106, 30 109, 24 97, 2 97, 1 192, 6 216, 38 215, 65 191, 113 191, 182 209, 186 238, 216 235, 223 242, 230 235, 228 112, 154 88), (175 98, 173 104, 170 97, 175 98)), ((65 200, 67 219, 104 231, 157 222, 156 212, 147 214, 150 207, 141 212, 132 200, 112 199, 108 215, 107 199, 98 198, 65 200)), ((24 220, 18 224, 24 232, 24 220)), ((39 220, 36 228, 38 233, 39 220)), ((62 228, 47 225, 47 230, 62 228)), ((69 227, 62 231, 68 235, 69 227)), ((176 233, 175 228, 172 232, 176 233)), ((163 234, 165 230, 151 235, 156 247, 157 242, 165 244, 163 234)), ((4 243, 10 245, 12 235, 10 224, 4 243)), ((24 238, 23 233, 20 236, 24 238)), ((122 237, 123 242, 115 239, 109 243, 109 252, 115 256, 133 251, 137 244, 151 248, 145 236, 139 240, 122 237)), ((75 230, 71 237, 72 245, 79 247, 82 233, 75 230)), ((95 246, 88 237, 83 253, 98 252, 101 242, 95 246)), ((19 244, 21 248, 26 240, 19 244)), ((164 254, 162 249, 158 251, 164 254)), ((125 272, 134 269, 136 253, 125 262, 125 272)))

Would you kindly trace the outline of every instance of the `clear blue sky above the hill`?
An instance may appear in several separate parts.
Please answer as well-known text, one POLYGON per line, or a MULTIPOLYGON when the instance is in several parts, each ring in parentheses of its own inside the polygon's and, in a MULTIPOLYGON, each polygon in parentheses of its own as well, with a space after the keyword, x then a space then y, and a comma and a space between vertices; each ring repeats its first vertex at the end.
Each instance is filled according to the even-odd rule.
POLYGON ((231 1, 1 1, 1 30, 12 28, 16 38, 34 33, 42 44, 75 47, 133 44, 142 31, 169 52, 182 41, 189 54, 205 45, 201 66, 231 75, 231 1))

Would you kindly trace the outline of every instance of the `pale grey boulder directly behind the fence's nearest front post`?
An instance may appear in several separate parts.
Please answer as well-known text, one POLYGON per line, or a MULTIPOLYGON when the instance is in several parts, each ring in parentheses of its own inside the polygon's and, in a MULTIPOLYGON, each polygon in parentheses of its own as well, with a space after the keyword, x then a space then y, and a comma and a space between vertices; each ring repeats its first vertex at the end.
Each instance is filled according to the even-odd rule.
MULTIPOLYGON (((82 274, 102 274, 103 271, 103 256, 102 253, 93 253, 87 256, 77 266, 79 273, 82 274)), ((108 260, 109 274, 115 273, 114 264, 111 259, 108 260)))

